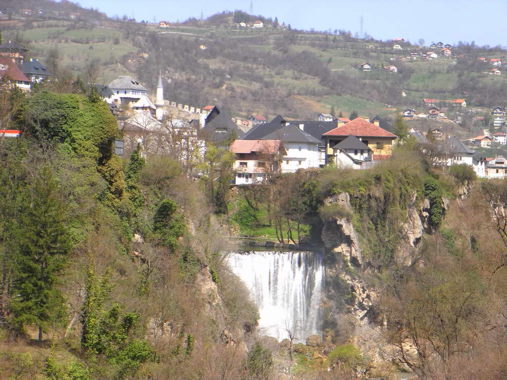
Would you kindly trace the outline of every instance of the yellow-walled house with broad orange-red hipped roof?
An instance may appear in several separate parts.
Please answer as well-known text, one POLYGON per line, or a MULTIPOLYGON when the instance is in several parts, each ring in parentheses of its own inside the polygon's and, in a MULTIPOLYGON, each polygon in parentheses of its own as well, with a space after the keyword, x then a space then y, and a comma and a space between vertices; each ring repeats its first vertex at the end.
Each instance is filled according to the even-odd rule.
POLYGON ((395 134, 370 123, 369 120, 356 118, 322 135, 326 142, 326 163, 333 160, 333 147, 349 135, 357 137, 372 150, 374 161, 389 158, 393 140, 396 139, 395 134))

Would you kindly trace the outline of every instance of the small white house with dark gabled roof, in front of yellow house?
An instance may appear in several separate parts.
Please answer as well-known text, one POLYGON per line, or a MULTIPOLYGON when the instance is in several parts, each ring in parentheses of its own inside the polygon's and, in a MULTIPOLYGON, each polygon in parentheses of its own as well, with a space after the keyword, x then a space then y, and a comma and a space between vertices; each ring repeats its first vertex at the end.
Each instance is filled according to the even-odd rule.
POLYGON ((372 149, 352 135, 332 146, 332 149, 334 163, 337 166, 361 169, 365 162, 372 161, 372 149))

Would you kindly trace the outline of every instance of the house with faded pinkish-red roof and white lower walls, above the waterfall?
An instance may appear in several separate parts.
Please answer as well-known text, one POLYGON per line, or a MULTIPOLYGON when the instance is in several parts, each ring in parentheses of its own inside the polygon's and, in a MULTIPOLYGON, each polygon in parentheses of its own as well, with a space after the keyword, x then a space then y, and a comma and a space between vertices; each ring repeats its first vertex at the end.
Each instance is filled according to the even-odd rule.
POLYGON ((236 155, 237 185, 260 183, 280 173, 282 157, 287 155, 280 140, 235 140, 230 150, 236 155))

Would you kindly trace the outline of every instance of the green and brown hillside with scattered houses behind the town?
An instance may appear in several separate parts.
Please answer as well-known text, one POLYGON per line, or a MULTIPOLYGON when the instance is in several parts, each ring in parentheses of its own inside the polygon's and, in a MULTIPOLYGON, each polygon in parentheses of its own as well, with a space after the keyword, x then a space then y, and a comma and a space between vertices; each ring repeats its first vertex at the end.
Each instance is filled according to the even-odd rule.
MULTIPOLYGON (((44 4, 33 2, 33 8, 44 4)), ((392 42, 356 39, 345 30, 298 31, 289 27, 289 20, 274 28, 271 19, 246 14, 248 20, 264 20, 265 27, 238 28, 238 16, 230 13, 159 28, 86 12, 75 20, 20 16, 17 24, 4 20, 0 27, 4 40, 26 43, 42 61, 51 60, 57 49, 60 68, 74 76, 86 77, 90 62, 98 61, 98 81, 131 74, 153 88, 162 69, 170 100, 221 104, 238 117, 281 113, 313 119, 331 107, 337 114, 356 110, 359 115, 393 117, 404 107, 424 110, 422 98, 460 98, 463 91, 468 106, 481 115, 503 104, 507 95, 503 76, 482 73, 490 65, 477 61, 479 56, 507 56, 499 50, 460 45, 452 48, 451 57, 410 60, 410 52, 429 48, 402 43, 403 50, 394 51, 392 42), (398 71, 360 71, 365 61, 377 68, 394 64, 398 71)), ((472 133, 472 117, 466 112, 450 109, 446 116, 460 116, 462 133, 472 133)))

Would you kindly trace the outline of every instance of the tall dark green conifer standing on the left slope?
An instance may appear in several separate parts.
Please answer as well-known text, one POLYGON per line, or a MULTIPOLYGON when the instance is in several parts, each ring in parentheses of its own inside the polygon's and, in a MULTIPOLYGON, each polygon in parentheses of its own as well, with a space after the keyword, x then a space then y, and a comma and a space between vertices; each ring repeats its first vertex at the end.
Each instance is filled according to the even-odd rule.
POLYGON ((71 250, 65 205, 48 167, 42 169, 28 188, 25 202, 14 238, 16 296, 10 310, 18 331, 26 324, 35 324, 42 340, 48 323, 61 321, 64 315, 64 300, 56 284, 71 250))

